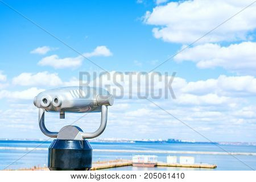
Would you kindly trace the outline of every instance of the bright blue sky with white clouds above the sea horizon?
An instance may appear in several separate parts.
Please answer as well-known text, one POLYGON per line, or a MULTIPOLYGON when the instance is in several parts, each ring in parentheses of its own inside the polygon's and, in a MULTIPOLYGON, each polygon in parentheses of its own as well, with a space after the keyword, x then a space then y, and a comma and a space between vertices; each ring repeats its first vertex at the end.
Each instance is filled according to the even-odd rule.
MULTIPOLYGON (((148 72, 251 3, 4 2, 111 73, 148 72)), ((254 10, 252 5, 155 70, 177 72, 177 99, 155 102, 214 141, 255 142, 254 10)), ((102 70, 3 3, 0 17, 0 138, 45 138, 34 96, 73 85, 81 71, 102 70), (65 60, 69 65, 57 64, 65 60)), ((148 101, 116 100, 109 112, 102 138, 205 140, 148 101)), ((47 124, 59 130, 77 117, 71 114, 63 122, 49 114, 52 122, 47 124)), ((98 122, 98 115, 91 114, 77 125, 87 131, 96 129, 98 122)))

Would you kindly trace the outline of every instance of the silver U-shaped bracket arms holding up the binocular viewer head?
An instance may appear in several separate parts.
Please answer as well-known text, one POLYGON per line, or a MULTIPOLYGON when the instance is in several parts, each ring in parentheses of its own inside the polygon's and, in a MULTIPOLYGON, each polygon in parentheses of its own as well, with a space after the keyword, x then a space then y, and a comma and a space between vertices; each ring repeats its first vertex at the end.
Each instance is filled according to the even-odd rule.
MULTIPOLYGON (((49 130, 47 130, 46 125, 44 125, 44 113, 45 113, 45 110, 42 108, 39 108, 40 130, 47 137, 57 138, 57 135, 59 134, 59 132, 49 131, 49 130)), ((96 137, 100 136, 106 128, 107 120, 108 120, 108 107, 105 105, 102 105, 101 106, 101 125, 100 125, 100 127, 98 128, 98 130, 94 131, 93 133, 81 132, 81 137, 83 139, 90 139, 90 138, 96 138, 96 137)))

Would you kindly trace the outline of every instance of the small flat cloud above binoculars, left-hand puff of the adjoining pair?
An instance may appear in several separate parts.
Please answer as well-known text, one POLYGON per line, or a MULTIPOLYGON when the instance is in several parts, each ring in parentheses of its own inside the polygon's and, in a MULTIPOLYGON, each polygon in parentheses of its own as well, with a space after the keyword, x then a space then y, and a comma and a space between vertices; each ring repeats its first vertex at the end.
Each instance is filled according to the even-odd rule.
POLYGON ((38 64, 42 66, 50 66, 55 69, 77 68, 77 67, 80 67, 83 59, 84 58, 82 56, 66 57, 61 59, 57 55, 51 55, 51 56, 44 57, 42 60, 38 62, 38 64))

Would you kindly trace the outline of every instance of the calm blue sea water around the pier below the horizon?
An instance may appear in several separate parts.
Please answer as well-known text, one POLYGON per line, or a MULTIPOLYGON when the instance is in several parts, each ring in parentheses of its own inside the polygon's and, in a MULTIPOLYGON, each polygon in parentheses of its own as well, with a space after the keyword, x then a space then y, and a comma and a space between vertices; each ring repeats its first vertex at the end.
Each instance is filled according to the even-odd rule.
MULTIPOLYGON (((39 141, 5 141, 0 140, 0 147, 39 147, 48 148, 51 142, 39 141)), ((175 151, 218 151, 224 152, 221 148, 210 143, 90 143, 94 149, 119 149, 119 150, 175 150, 175 151)), ((232 146, 221 145, 229 152, 256 152, 255 146, 232 146)), ((18 169, 29 168, 33 166, 47 166, 48 151, 32 151, 27 154, 26 150, 0 150, 0 169, 18 169)), ((145 154, 147 155, 147 154, 145 154)), ((152 154, 148 154, 152 155, 152 154)), ((166 162, 167 154, 158 155, 158 161, 166 162)), ((113 160, 113 159, 131 159, 131 153, 112 153, 112 152, 93 152, 93 161, 113 160)), ((176 156, 194 156, 196 163, 217 164, 216 169, 203 170, 250 170, 248 166, 256 169, 256 156, 236 155, 236 158, 230 155, 182 155, 176 156)), ((141 167, 119 167, 110 170, 152 170, 153 168, 141 167)), ((200 168, 177 168, 177 167, 156 167, 154 170, 200 170, 200 168)), ((201 169, 202 170, 202 169, 201 169)))

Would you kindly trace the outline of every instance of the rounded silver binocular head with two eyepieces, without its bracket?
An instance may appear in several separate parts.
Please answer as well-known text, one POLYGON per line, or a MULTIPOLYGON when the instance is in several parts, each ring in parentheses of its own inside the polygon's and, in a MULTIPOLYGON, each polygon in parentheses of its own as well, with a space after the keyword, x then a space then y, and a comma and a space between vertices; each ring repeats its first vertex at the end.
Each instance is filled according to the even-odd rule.
POLYGON ((113 102, 113 96, 107 90, 88 86, 46 90, 34 99, 38 108, 73 113, 100 112, 101 105, 113 105, 113 102))

